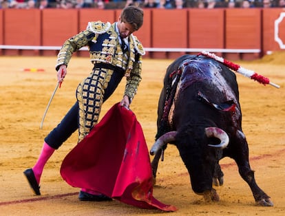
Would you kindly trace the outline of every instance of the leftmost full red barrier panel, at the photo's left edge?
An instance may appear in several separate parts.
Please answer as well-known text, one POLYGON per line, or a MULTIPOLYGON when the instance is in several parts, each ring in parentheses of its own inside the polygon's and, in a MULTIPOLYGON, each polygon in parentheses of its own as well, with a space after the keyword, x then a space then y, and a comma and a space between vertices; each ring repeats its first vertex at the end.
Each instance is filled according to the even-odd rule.
MULTIPOLYGON (((41 45, 41 10, 8 9, 4 12, 6 45, 41 45)), ((5 50, 6 55, 37 55, 37 50, 5 50)))

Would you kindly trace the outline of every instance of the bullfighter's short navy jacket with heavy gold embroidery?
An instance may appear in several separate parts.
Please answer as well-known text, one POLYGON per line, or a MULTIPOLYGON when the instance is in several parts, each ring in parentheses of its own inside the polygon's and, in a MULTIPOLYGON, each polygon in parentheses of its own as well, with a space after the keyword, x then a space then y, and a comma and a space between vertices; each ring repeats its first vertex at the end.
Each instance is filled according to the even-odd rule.
POLYGON ((89 47, 90 61, 93 64, 108 63, 125 71, 125 95, 132 100, 141 80, 142 56, 145 54, 136 36, 129 36, 129 51, 123 53, 115 23, 89 22, 86 30, 65 41, 58 54, 56 70, 60 65, 68 65, 72 54, 84 46, 89 47))

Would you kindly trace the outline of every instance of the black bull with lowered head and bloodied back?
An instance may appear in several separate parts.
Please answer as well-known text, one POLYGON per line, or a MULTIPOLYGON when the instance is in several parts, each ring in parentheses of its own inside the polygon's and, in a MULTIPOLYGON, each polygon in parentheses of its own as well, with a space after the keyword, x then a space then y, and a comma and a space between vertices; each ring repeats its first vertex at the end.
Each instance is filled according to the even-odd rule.
POLYGON ((151 148, 154 179, 167 143, 175 144, 195 193, 219 201, 213 184, 223 184, 219 160, 235 160, 255 202, 273 206, 257 186, 242 132, 242 113, 235 74, 212 58, 184 55, 167 68, 158 103, 158 132, 151 148), (220 143, 221 142, 221 143, 220 143))

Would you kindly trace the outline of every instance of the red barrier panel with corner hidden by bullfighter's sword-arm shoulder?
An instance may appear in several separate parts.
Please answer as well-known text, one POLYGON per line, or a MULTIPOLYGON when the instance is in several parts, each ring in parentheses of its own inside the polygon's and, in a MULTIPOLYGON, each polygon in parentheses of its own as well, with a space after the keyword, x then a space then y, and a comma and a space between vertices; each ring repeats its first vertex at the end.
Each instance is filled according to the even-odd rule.
MULTIPOLYGON (((61 46, 66 39, 78 33, 77 9, 48 9, 42 13, 43 46, 61 46)), ((57 52, 45 50, 43 55, 55 56, 57 52)))

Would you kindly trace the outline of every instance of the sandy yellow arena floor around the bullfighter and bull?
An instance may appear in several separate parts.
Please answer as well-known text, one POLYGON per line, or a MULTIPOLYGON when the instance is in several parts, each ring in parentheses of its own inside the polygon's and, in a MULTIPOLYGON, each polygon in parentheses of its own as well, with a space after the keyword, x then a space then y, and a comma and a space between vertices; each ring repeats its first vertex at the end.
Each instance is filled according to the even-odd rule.
MULTIPOLYGON (((30 191, 23 171, 33 166, 41 151, 43 138, 65 115, 75 101, 78 83, 89 74, 88 58, 73 57, 68 74, 40 129, 41 119, 56 86, 54 57, 0 56, 0 215, 285 215, 285 52, 260 61, 238 62, 280 85, 260 85, 237 74, 243 112, 243 131, 249 142, 251 168, 257 184, 275 204, 255 206, 249 186, 237 172, 235 162, 223 159, 224 186, 216 187, 219 203, 205 203, 191 190, 189 175, 176 147, 169 145, 165 161, 158 167, 154 197, 178 208, 174 213, 145 210, 113 202, 79 202, 79 188, 64 182, 59 173, 65 155, 77 142, 77 133, 56 151, 41 178, 42 195, 30 191), (23 72, 40 68, 45 72, 23 72)), ((148 147, 156 134, 156 109, 165 69, 171 60, 145 59, 142 83, 131 109, 142 125, 148 147)), ((101 116, 123 96, 125 82, 103 105, 101 116)))

